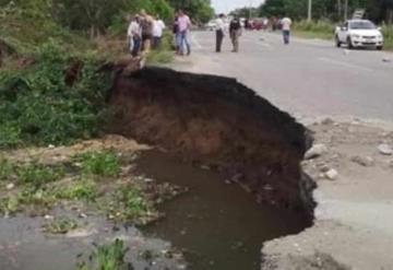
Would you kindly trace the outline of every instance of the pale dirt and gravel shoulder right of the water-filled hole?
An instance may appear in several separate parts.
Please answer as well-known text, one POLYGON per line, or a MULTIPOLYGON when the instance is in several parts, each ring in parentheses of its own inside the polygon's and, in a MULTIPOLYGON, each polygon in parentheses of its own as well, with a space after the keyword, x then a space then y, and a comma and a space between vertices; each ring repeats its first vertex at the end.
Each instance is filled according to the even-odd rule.
POLYGON ((393 269, 393 145, 388 126, 325 119, 310 126, 327 152, 305 161, 318 183, 314 225, 303 233, 265 243, 262 269, 393 269), (325 172, 338 175, 327 179, 325 172), (326 255, 332 263, 323 263, 326 255))

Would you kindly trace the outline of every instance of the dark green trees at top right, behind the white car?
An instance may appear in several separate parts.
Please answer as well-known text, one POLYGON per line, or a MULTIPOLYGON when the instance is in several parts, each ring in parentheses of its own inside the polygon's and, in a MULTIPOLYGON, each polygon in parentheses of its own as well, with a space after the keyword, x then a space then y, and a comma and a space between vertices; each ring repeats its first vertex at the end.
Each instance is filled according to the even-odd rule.
MULTIPOLYGON (((315 20, 344 19, 345 0, 312 0, 312 16, 315 20)), ((365 9, 366 16, 376 22, 393 23, 393 0, 348 0, 348 15, 357 9, 365 9)), ((266 0, 259 8, 260 16, 288 15, 300 20, 307 17, 308 0, 266 0)))

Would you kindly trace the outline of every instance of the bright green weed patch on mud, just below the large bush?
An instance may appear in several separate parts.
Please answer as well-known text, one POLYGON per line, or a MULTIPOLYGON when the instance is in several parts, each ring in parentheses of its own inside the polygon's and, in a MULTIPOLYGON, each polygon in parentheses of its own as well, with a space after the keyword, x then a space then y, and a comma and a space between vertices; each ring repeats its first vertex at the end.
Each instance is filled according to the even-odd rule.
POLYGON ((119 157, 114 151, 87 152, 73 157, 82 173, 96 176, 117 176, 121 172, 119 157))

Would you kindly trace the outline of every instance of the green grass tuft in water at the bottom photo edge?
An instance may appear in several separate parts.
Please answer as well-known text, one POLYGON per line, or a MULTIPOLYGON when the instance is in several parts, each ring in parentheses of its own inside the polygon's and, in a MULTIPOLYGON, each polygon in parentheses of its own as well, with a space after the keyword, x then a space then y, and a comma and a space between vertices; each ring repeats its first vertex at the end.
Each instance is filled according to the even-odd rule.
POLYGON ((126 262, 128 248, 120 239, 111 244, 97 246, 90 256, 90 260, 78 262, 78 270, 127 270, 133 269, 131 263, 126 262))

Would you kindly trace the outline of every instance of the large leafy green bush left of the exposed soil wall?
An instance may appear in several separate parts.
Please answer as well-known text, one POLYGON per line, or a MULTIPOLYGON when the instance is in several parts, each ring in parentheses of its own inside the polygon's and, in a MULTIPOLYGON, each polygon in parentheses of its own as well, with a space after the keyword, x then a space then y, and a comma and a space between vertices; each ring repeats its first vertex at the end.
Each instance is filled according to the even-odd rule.
POLYGON ((37 61, 24 70, 0 71, 0 149, 97 136, 111 82, 97 71, 99 61, 88 55, 75 60, 53 40, 35 55, 37 61))

